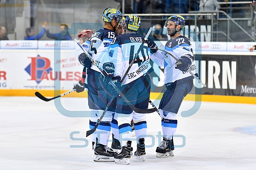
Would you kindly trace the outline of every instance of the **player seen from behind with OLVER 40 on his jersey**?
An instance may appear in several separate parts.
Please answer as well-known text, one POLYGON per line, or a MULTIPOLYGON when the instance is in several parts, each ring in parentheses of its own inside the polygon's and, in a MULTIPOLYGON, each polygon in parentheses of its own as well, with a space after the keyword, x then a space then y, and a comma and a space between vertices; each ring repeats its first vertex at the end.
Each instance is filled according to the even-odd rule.
MULTIPOLYGON (((151 53, 156 50, 150 50, 149 47, 154 46, 151 42, 146 42, 141 49, 144 38, 137 34, 137 30, 141 24, 140 17, 137 15, 128 15, 125 20, 124 31, 125 34, 113 38, 109 48, 109 61, 114 66, 114 73, 112 81, 116 84, 119 90, 125 95, 136 108, 147 109, 150 93, 150 79, 147 72, 153 71, 150 66, 149 58, 151 53), (130 62, 136 57, 134 64, 128 71, 128 75, 124 74, 130 65, 130 62), (123 84, 121 79, 124 78, 123 84)), ((155 47, 155 46, 154 46, 155 47)), ((105 63, 104 63, 105 64, 105 63)), ((135 151, 136 158, 139 161, 144 161, 145 152, 145 137, 147 135, 146 115, 135 113, 128 104, 119 96, 119 93, 110 86, 111 94, 117 98, 117 108, 115 117, 119 126, 119 141, 122 144, 122 150, 115 155, 115 163, 129 164, 131 143, 130 137, 132 133, 131 120, 134 121, 134 129, 137 143, 137 150, 135 151)))

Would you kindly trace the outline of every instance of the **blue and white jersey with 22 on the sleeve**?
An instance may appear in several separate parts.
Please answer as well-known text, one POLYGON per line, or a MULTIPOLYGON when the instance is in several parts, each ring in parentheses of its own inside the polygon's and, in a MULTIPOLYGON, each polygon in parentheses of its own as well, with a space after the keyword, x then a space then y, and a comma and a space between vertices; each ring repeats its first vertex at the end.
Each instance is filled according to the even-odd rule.
MULTIPOLYGON (((165 51, 168 51, 177 59, 180 59, 180 57, 185 55, 191 55, 193 57, 193 49, 191 48, 191 43, 186 37, 182 35, 169 40, 165 44, 165 51)), ((160 67, 164 66, 165 84, 175 81, 177 81, 177 84, 180 84, 194 78, 188 71, 184 72, 176 69, 176 60, 174 60, 174 58, 165 51, 157 51, 154 53, 154 56, 151 57, 151 59, 160 67)), ((189 70, 196 75, 197 71, 195 60, 193 60, 189 70)))

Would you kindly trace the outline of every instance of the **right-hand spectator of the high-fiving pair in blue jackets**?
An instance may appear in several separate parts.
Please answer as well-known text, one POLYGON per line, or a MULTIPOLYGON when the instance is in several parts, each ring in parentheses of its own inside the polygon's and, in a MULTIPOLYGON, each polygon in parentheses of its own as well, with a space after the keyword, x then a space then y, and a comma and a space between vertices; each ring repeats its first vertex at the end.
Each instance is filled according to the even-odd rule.
POLYGON ((46 36, 48 38, 52 38, 52 39, 55 39, 55 40, 70 40, 70 39, 72 39, 70 34, 69 34, 69 31, 68 31, 69 27, 66 24, 61 24, 60 28, 59 28, 60 33, 55 33, 55 34, 49 33, 47 23, 46 23, 45 28, 46 28, 46 36))

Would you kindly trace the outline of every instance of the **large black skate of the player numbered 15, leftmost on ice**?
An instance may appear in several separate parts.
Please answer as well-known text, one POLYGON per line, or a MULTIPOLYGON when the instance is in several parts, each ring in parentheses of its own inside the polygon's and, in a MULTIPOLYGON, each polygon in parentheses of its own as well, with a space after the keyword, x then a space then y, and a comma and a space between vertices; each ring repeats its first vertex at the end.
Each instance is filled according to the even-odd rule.
POLYGON ((114 156, 117 154, 117 152, 114 152, 111 148, 109 148, 106 145, 97 143, 98 139, 96 138, 96 144, 95 144, 95 158, 93 161, 95 162, 114 162, 114 156))

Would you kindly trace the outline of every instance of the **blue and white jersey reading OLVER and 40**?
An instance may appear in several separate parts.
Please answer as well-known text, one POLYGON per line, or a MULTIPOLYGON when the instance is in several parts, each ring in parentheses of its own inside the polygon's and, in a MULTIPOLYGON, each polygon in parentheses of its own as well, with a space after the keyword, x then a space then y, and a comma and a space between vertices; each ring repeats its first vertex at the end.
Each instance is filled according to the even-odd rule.
MULTIPOLYGON (((132 59, 136 55, 144 38, 137 33, 128 33, 113 38, 109 48, 109 60, 115 66, 114 76, 124 77, 132 59)), ((150 49, 147 42, 144 44, 134 64, 125 77, 123 84, 128 84, 143 76, 151 68, 149 63, 150 49)), ((105 61, 108 62, 108 61, 105 61)), ((150 70, 151 71, 151 70, 150 70)))

